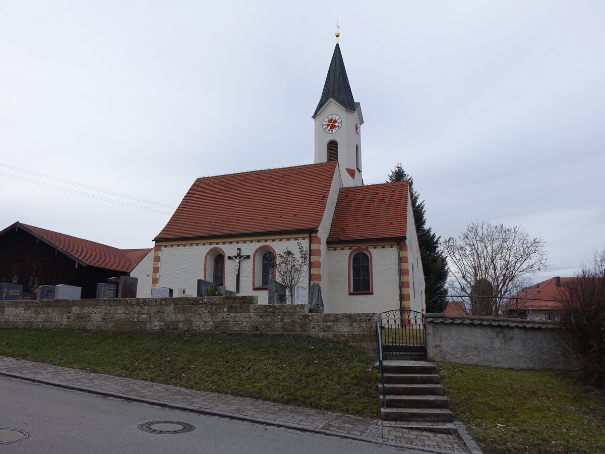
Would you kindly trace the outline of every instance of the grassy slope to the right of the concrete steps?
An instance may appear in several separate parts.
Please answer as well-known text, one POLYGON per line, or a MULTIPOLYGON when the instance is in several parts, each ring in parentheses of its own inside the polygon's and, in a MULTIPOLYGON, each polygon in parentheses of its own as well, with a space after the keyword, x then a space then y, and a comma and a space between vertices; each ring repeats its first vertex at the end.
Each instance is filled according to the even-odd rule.
POLYGON ((605 393, 567 374, 440 363, 450 409, 485 453, 605 453, 605 393))

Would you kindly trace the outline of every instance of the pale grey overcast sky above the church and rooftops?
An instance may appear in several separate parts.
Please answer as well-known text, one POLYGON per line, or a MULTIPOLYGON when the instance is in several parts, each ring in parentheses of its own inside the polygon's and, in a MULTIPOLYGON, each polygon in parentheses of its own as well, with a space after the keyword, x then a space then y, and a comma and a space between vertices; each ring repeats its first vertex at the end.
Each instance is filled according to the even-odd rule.
POLYGON ((143 248, 174 209, 16 168, 175 207, 196 177, 313 162, 337 18, 366 184, 401 162, 442 237, 523 226, 536 281, 603 248, 601 0, 0 0, 0 229, 143 248))

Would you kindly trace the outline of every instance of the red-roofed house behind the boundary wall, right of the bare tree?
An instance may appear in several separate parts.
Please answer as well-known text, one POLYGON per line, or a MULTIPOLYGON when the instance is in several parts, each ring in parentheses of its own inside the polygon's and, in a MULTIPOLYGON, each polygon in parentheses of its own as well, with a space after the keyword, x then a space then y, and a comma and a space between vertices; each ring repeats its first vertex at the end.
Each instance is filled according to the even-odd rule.
POLYGON ((554 320, 561 309, 561 301, 567 297, 566 284, 577 277, 551 277, 529 286, 502 306, 506 317, 529 318, 532 320, 554 320))

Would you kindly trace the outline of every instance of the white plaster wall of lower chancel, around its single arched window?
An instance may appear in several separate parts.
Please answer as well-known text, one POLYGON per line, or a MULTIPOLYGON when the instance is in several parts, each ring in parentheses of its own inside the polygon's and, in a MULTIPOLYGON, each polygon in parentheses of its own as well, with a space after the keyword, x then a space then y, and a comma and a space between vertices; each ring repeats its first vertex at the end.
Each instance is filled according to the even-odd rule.
MULTIPOLYGON (((361 245, 360 245, 361 246, 361 245)), ((349 294, 349 255, 357 247, 347 246, 341 251, 338 245, 328 252, 330 292, 324 295, 325 312, 384 312, 399 308, 399 255, 397 246, 368 248, 371 254, 371 295, 349 294)))

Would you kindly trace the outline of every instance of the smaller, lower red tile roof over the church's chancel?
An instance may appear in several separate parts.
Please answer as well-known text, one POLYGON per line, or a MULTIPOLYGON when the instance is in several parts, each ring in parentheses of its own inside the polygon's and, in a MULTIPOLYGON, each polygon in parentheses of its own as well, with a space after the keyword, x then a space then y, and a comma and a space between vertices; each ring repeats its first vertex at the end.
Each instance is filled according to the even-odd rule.
POLYGON ((408 182, 342 188, 328 241, 407 235, 408 182))

